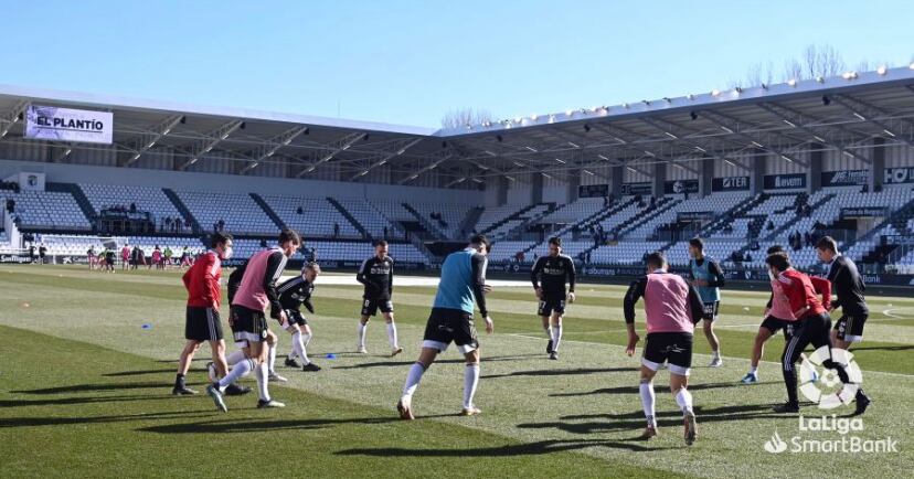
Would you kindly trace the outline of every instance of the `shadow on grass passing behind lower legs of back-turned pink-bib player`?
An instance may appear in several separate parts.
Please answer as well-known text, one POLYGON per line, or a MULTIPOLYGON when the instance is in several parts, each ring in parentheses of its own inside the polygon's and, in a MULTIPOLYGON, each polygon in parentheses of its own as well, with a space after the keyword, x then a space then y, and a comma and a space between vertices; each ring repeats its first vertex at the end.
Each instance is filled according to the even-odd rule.
MULTIPOLYGON (((718 423, 718 422, 738 422, 753 421, 765 417, 785 417, 782 414, 774 413, 772 405, 742 405, 742 406, 724 406, 719 408, 700 408, 695 407, 695 416, 698 416, 699 424, 701 423, 718 423)), ((676 411, 665 411, 657 413, 657 424, 661 427, 682 426, 682 414, 676 411)), ((620 430, 638 430, 645 427, 645 416, 641 411, 624 414, 594 414, 580 416, 565 416, 559 422, 545 423, 527 423, 518 424, 517 427, 522 429, 551 429, 555 428, 571 434, 606 434, 620 430), (568 418, 591 419, 583 423, 568 423, 568 418), (597 421, 604 419, 604 421, 597 421)))

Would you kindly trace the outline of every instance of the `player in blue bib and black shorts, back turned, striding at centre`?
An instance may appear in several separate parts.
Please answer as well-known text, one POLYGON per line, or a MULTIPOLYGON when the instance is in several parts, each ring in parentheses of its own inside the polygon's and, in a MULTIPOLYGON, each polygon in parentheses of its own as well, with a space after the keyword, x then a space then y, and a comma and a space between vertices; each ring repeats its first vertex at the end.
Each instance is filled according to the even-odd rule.
POLYGON ((464 373, 464 408, 460 414, 472 416, 481 413, 472 403, 479 384, 479 341, 472 323, 472 302, 479 306, 479 313, 486 321, 486 332, 493 330, 492 319, 486 308, 486 255, 489 241, 483 235, 475 235, 466 249, 451 253, 442 265, 442 279, 422 342, 418 361, 411 368, 403 386, 403 396, 396 403, 401 419, 413 419, 413 394, 418 388, 422 375, 435 362, 435 358, 451 342, 464 353, 467 360, 464 373))

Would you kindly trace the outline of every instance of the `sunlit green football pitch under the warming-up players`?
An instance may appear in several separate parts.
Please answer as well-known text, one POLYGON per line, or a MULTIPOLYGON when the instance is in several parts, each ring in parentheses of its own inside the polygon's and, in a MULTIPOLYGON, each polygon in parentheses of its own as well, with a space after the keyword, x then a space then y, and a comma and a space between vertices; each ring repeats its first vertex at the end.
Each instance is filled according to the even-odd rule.
MULTIPOLYGON (((831 411, 804 405, 804 430, 796 415, 770 411, 786 400, 774 362, 784 345, 780 336, 767 344, 761 382, 738 384, 767 294, 724 290, 718 324, 722 368, 705 368, 708 342, 700 331, 695 336, 690 390, 699 437, 688 447, 666 371, 655 379, 659 436, 638 440, 645 424, 639 362, 624 353, 621 286, 578 285, 578 300, 565 316, 560 361, 546 359, 532 289, 497 287, 488 298, 496 332, 480 338, 476 403, 483 413, 457 415, 464 361, 451 348, 423 377, 413 403, 417 421, 406 423, 394 405, 418 353, 435 288, 394 289, 402 355, 389 358, 380 317, 368 329, 369 354, 360 355, 353 351, 361 288, 331 284, 343 283, 331 281, 334 276, 318 279, 317 312, 310 318, 315 337, 308 352, 323 370, 283 366, 290 338, 277 324, 277 371, 289 382, 272 384, 270 391, 287 407, 257 409, 252 393, 227 397, 230 412, 221 414, 202 394, 205 345, 188 376, 201 394, 171 395, 184 342, 179 273, 0 266, 0 471, 4 477, 226 477, 253 475, 256 465, 275 477, 893 478, 914 469, 910 296, 869 298, 865 341, 852 352, 873 405, 861 416, 862 430, 841 434, 809 425, 816 429, 822 416, 833 424, 831 415, 850 414, 852 405, 831 411), (788 450, 765 450, 775 434, 788 450), (851 436, 891 438, 897 451, 828 449, 851 436), (795 437, 804 448, 821 449, 794 451, 795 437)), ((644 338, 640 306, 637 310, 644 338)), ((245 382, 253 385, 253 376, 245 382)))

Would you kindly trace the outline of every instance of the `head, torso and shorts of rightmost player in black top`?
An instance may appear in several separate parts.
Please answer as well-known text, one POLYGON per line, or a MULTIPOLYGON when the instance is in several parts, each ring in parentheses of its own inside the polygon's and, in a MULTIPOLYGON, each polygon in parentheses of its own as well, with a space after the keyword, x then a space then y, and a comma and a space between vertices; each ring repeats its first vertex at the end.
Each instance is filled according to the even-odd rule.
POLYGON ((870 316, 863 291, 867 286, 853 260, 838 252, 838 243, 831 236, 823 236, 816 243, 819 260, 829 265, 828 280, 838 299, 829 311, 841 308, 841 318, 831 331, 831 344, 847 350, 851 344, 863 341, 863 324, 870 316))

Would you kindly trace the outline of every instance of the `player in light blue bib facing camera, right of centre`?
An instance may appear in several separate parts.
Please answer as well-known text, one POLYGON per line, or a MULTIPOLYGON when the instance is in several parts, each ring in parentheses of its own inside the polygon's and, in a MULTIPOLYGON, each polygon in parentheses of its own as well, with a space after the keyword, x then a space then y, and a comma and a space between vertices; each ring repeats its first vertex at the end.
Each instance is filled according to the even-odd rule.
POLYGON ((692 273, 692 286, 698 289, 701 301, 704 304, 704 337, 711 344, 711 363, 709 368, 723 365, 721 358, 721 342, 718 334, 714 334, 714 321, 718 319, 718 310, 721 306, 721 288, 724 286, 723 270, 715 260, 704 256, 704 242, 701 238, 689 240, 689 268, 692 273))

